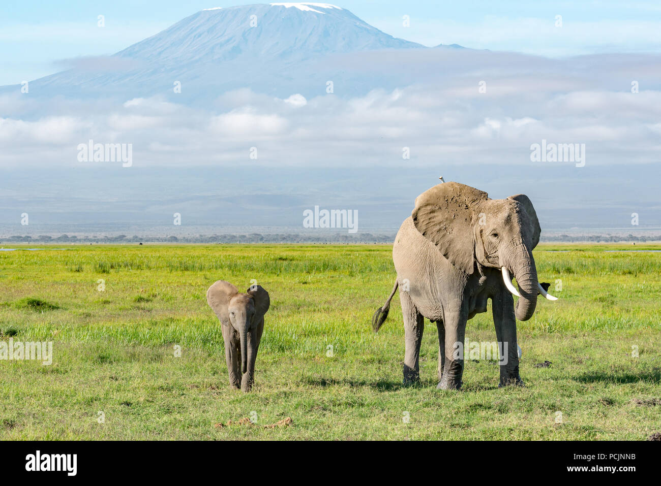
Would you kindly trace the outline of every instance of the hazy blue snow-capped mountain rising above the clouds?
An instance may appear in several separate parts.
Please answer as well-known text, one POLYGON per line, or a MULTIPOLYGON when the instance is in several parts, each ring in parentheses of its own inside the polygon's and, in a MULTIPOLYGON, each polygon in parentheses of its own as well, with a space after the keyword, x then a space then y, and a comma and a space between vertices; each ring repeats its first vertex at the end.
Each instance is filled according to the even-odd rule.
POLYGON ((383 77, 364 72, 342 55, 411 49, 428 48, 393 38, 328 3, 206 9, 102 58, 104 69, 97 61, 93 70, 62 71, 32 81, 30 93, 82 98, 177 94, 178 101, 199 104, 243 87, 276 96, 315 96, 331 80, 340 86, 338 94, 358 94, 383 77), (175 93, 176 83, 180 93, 175 93))

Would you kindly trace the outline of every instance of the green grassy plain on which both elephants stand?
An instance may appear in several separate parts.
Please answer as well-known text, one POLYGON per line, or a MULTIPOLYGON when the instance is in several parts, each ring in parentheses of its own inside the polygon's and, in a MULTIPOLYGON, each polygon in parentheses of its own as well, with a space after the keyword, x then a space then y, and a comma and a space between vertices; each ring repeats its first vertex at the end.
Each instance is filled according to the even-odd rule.
MULTIPOLYGON (((661 246, 540 245, 540 278, 561 300, 518 323, 526 387, 498 389, 498 366, 468 361, 461 392, 436 390, 428 322, 422 384, 401 386, 399 298, 371 332, 395 279, 389 246, 0 252, 0 339, 54 343, 50 366, 0 361, 0 438, 641 440, 661 431, 661 254, 604 251, 619 249, 661 246), (205 299, 217 279, 270 293, 251 394, 227 386, 205 299), (293 425, 214 427, 241 417, 293 425)), ((490 310, 467 336, 495 339, 490 310)))

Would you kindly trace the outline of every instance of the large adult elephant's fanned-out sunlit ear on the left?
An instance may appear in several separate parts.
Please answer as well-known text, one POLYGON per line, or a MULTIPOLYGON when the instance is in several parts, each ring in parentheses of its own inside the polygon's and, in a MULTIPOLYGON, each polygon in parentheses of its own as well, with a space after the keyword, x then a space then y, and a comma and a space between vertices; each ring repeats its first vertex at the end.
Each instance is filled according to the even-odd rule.
POLYGON ((486 201, 484 191, 445 182, 424 191, 415 200, 411 213, 416 229, 455 267, 465 273, 475 268, 473 209, 486 201))

